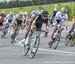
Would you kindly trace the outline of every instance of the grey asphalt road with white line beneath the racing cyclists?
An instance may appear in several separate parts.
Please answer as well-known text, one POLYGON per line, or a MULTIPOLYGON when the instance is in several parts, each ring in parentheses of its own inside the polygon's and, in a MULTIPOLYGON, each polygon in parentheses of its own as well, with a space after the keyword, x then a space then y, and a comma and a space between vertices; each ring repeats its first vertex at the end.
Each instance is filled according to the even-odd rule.
MULTIPOLYGON (((71 23, 69 23, 69 26, 71 23)), ((44 28, 45 26, 43 26, 44 28)), ((52 28, 50 27, 50 33, 52 28)), ((17 37, 20 41, 24 37, 24 31, 17 37)), ((62 39, 56 50, 48 47, 48 38, 41 35, 41 43, 37 55, 34 59, 24 56, 23 47, 10 43, 10 34, 5 39, 0 39, 0 64, 75 64, 75 46, 65 46, 65 35, 67 31, 62 32, 62 39)), ((1 35, 1 33, 0 33, 1 35)))

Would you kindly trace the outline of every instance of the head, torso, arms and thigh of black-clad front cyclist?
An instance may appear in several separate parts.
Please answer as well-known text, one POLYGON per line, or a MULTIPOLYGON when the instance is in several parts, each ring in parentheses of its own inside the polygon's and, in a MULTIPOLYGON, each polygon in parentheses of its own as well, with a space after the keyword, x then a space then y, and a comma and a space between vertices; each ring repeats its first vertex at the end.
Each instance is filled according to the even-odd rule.
MULTIPOLYGON (((29 33, 34 32, 34 29, 36 29, 36 31, 41 30, 44 23, 46 23, 46 31, 48 31, 48 11, 43 11, 32 21, 29 33)), ((47 33, 45 35, 47 36, 47 33)))

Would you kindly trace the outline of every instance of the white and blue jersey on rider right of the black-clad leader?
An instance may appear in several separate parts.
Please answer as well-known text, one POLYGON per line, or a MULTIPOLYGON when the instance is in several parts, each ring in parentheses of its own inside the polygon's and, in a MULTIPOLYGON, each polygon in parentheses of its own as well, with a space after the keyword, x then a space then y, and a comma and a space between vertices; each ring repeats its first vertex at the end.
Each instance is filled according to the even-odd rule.
POLYGON ((64 14, 63 16, 61 15, 61 12, 57 12, 55 16, 57 20, 57 24, 62 24, 65 20, 68 19, 68 15, 64 14))

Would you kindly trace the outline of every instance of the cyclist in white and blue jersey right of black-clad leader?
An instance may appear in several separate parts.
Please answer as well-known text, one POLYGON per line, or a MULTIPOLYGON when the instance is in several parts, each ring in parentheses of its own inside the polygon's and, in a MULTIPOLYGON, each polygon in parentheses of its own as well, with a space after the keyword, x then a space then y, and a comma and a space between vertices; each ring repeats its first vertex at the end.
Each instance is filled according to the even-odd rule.
POLYGON ((52 44, 52 41, 53 41, 52 39, 53 39, 54 33, 57 30, 57 26, 61 26, 60 32, 64 29, 64 26, 66 26, 66 27, 68 26, 68 24, 67 24, 68 15, 66 13, 67 13, 67 9, 65 7, 61 8, 60 12, 56 13, 55 19, 53 21, 53 25, 54 25, 53 31, 52 31, 52 34, 51 34, 51 38, 48 41, 49 45, 52 44))

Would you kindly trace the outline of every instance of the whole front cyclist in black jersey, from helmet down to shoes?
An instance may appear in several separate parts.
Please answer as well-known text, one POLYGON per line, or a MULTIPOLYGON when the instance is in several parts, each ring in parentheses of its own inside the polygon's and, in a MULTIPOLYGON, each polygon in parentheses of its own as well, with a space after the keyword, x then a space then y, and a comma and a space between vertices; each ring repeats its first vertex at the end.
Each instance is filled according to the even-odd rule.
POLYGON ((34 47, 36 35, 38 34, 38 31, 41 30, 43 23, 46 23, 46 27, 48 27, 48 11, 43 11, 40 15, 38 15, 30 23, 29 30, 26 32, 26 35, 25 35, 25 44, 26 43, 27 43, 26 45, 28 45, 29 43, 33 44, 32 47, 30 48, 31 51, 32 51, 32 48, 34 47))

